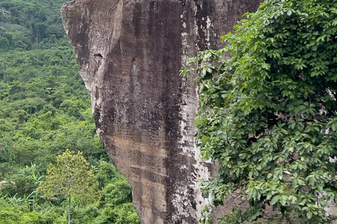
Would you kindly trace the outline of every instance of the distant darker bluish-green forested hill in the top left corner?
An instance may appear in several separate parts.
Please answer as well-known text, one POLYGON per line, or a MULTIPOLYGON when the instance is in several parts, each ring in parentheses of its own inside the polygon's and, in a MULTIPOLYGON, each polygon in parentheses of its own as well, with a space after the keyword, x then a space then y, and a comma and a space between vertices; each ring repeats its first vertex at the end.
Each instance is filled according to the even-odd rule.
POLYGON ((60 7, 63 2, 1 1, 0 52, 50 48, 56 43, 67 43, 60 22, 60 7))

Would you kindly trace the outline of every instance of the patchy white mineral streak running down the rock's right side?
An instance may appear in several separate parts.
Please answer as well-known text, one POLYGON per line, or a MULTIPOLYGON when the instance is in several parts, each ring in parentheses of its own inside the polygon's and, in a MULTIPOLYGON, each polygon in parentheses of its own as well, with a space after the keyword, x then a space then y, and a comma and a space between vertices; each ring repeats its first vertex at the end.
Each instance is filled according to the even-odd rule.
MULTIPOLYGON (((195 8, 197 10, 197 8, 195 8)), ((189 55, 194 55, 195 50, 199 51, 199 47, 197 45, 196 41, 196 49, 194 49, 194 53, 192 52, 191 46, 188 44, 188 38, 189 34, 186 29, 186 22, 185 22, 185 11, 183 12, 183 15, 180 15, 180 23, 181 23, 181 43, 182 43, 182 52, 181 52, 181 64, 183 66, 187 66, 188 58, 189 55)), ((210 29, 211 25, 210 20, 208 18, 207 20, 209 23, 207 23, 206 29, 210 29)), ((196 38, 199 38, 199 27, 197 27, 197 21, 194 21, 194 35, 196 38)), ((206 32, 205 34, 209 34, 209 31, 206 32)), ((209 35, 207 35, 209 36, 209 35)), ((209 41, 209 39, 207 40, 209 41)), ((191 94, 191 92, 187 92, 187 82, 191 81, 192 77, 187 78, 186 80, 183 80, 183 85, 182 85, 182 90, 183 90, 183 96, 182 96, 182 104, 180 104, 180 134, 181 134, 181 139, 178 141, 181 154, 192 157, 195 160, 195 163, 193 165, 194 169, 193 172, 191 173, 190 176, 187 178, 190 179, 190 183, 192 185, 190 186, 184 186, 183 184, 176 183, 175 189, 176 189, 176 194, 173 195, 172 198, 172 203, 173 206, 176 207, 176 214, 173 216, 173 220, 178 221, 179 217, 185 216, 188 217, 191 214, 195 214, 196 220, 199 219, 201 216, 201 209, 208 203, 208 199, 204 199, 202 197, 201 192, 199 190, 198 186, 198 179, 210 179, 210 172, 208 168, 205 166, 205 162, 201 161, 199 155, 199 148, 194 144, 194 134, 197 132, 196 128, 193 127, 194 123, 194 115, 197 113, 198 108, 199 108, 199 99, 198 99, 198 88, 196 87, 195 92, 191 94), (195 97, 191 97, 195 96, 195 97), (192 188, 194 195, 190 195, 188 192, 188 188, 192 188), (193 201, 196 206, 196 211, 188 211, 186 209, 182 209, 182 207, 185 208, 190 208, 192 209, 192 204, 191 204, 191 198, 193 198, 193 201)), ((188 169, 185 165, 180 167, 182 172, 185 169, 188 169)), ((184 223, 184 222, 183 222, 184 223)))

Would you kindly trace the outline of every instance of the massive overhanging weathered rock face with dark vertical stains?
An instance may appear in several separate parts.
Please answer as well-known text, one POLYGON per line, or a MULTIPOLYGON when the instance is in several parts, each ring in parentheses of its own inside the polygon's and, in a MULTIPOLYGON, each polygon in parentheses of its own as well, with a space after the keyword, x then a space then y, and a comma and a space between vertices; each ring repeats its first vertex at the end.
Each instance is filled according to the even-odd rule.
POLYGON ((197 223, 204 206, 192 126, 197 85, 179 70, 219 48, 259 0, 74 0, 63 25, 91 92, 98 134, 130 181, 142 223, 197 223))

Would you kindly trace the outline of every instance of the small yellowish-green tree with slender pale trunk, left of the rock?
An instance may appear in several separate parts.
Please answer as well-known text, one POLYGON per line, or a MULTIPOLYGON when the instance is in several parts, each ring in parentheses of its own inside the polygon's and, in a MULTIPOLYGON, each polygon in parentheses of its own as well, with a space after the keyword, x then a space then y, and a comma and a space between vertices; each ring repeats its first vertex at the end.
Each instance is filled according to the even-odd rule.
POLYGON ((69 149, 58 155, 57 165, 48 165, 48 175, 38 190, 47 198, 64 195, 69 199, 68 221, 72 197, 81 202, 93 202, 98 197, 98 183, 93 183, 94 174, 81 152, 73 154, 69 149))

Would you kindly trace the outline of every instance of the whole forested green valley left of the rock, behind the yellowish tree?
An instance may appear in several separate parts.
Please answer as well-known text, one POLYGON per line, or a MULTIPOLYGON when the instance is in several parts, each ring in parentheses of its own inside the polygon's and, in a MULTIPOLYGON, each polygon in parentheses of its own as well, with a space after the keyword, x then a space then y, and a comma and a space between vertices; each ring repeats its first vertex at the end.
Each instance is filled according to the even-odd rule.
POLYGON ((0 224, 68 223, 69 198, 44 195, 50 163, 81 151, 98 186, 71 195, 71 223, 140 223, 131 186, 95 133, 90 95, 62 28, 60 0, 0 2, 0 224), (82 200, 81 200, 82 199, 82 200))

